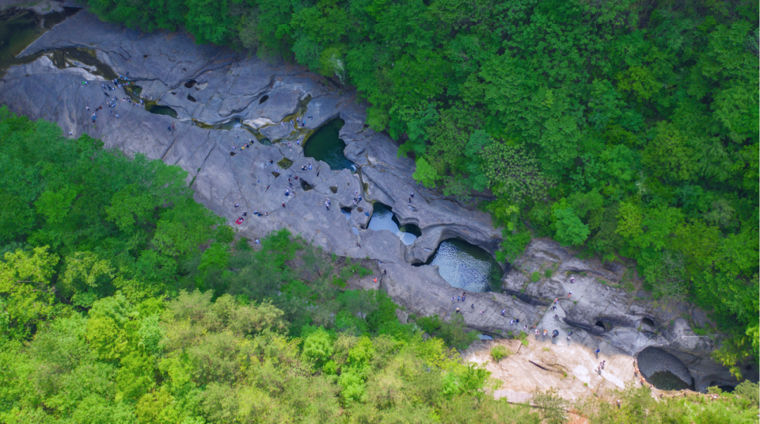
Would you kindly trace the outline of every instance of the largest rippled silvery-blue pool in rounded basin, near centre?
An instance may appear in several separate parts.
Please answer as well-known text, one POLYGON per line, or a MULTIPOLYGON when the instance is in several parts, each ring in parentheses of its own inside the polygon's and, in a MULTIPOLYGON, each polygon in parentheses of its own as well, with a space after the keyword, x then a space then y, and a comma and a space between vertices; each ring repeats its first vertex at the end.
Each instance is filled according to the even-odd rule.
POLYGON ((451 287, 467 292, 500 292, 502 289, 504 272, 496 260, 486 250, 461 238, 442 241, 425 265, 438 265, 439 274, 451 287))

